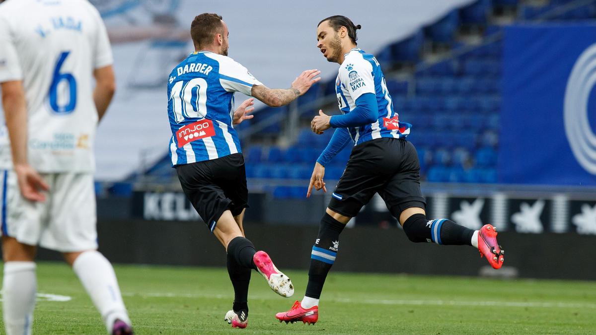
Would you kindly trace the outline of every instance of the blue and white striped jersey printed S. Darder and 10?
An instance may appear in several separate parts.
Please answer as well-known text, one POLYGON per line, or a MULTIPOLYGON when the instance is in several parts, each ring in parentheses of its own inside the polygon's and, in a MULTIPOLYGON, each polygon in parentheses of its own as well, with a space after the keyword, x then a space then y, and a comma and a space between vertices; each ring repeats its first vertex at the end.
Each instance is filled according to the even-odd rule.
POLYGON ((224 55, 193 52, 178 64, 167 83, 172 166, 240 153, 234 92, 250 95, 253 85, 262 84, 224 55))

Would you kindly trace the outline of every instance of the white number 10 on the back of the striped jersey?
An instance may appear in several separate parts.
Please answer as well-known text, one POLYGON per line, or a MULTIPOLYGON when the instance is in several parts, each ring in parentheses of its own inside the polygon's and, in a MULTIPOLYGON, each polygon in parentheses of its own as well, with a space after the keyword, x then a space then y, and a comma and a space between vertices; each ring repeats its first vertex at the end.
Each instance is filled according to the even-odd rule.
POLYGON ((170 91, 172 109, 176 122, 186 119, 203 119, 207 115, 207 81, 193 78, 184 82, 180 80, 170 91))

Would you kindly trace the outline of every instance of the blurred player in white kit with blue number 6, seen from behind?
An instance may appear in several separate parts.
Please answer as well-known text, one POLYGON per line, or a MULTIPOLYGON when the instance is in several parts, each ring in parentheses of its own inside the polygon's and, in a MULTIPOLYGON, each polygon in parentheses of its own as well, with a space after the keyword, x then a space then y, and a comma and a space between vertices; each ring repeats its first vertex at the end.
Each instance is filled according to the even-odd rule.
POLYGON ((0 4, 0 87, 10 137, 10 148, 0 143, 9 335, 31 333, 38 245, 63 254, 108 333, 132 334, 114 269, 97 252, 95 228, 92 148, 115 90, 112 62, 104 23, 88 1, 0 4))

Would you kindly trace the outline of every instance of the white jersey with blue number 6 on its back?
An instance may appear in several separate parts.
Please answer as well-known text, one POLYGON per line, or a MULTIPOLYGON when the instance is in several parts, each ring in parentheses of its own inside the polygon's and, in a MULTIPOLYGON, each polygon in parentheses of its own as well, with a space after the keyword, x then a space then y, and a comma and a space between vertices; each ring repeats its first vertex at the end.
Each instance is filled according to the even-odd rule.
MULTIPOLYGON (((94 170, 98 116, 92 75, 112 61, 104 23, 87 0, 0 5, 0 82, 23 80, 33 168, 94 170)), ((8 141, 0 145, 0 168, 10 168, 8 141)))

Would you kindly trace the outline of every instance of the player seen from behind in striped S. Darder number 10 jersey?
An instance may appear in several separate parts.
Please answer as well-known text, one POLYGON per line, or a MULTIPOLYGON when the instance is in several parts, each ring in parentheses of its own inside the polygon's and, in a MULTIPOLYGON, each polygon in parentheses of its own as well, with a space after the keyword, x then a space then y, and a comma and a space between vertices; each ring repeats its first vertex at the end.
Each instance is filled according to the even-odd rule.
POLYGON ((234 305, 225 320, 232 327, 245 328, 252 269, 259 271, 281 296, 291 296, 294 287, 267 253, 256 252, 244 236, 248 190, 234 125, 250 119, 254 108, 249 99, 234 110, 234 93, 279 107, 296 100, 320 77, 317 70, 307 70, 289 89, 266 87, 246 67, 228 57, 228 27, 218 14, 195 17, 191 37, 195 52, 172 70, 167 85, 167 113, 172 128, 170 157, 182 190, 226 249, 234 305))

